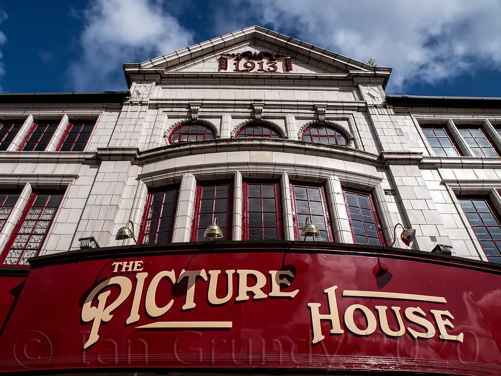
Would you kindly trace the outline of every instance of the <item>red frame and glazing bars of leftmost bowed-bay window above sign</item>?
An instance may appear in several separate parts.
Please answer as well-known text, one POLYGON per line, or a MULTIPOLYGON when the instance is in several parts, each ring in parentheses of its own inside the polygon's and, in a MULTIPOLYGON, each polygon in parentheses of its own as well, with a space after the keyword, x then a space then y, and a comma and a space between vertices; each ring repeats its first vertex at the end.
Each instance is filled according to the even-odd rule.
POLYGON ((143 244, 145 236, 150 235, 150 234, 155 234, 155 241, 148 242, 148 244, 157 244, 158 234, 160 234, 160 233, 168 233, 168 238, 166 239, 165 242, 162 242, 162 243, 170 243, 172 241, 172 233, 174 232, 174 220, 176 217, 178 198, 179 198, 179 185, 170 185, 170 186, 166 186, 166 187, 163 187, 161 189, 158 189, 158 190, 148 192, 148 197, 146 199, 146 205, 144 207, 143 219, 141 221, 141 230, 139 232, 139 236, 138 236, 138 240, 137 240, 138 244, 143 244), (164 202, 166 193, 172 192, 172 191, 175 191, 173 200, 168 201, 168 202, 164 202), (161 194, 161 193, 163 193, 162 203, 155 204, 153 202, 154 196, 156 194, 161 194), (168 215, 164 215, 164 212, 163 212, 165 209, 164 208, 165 204, 172 204, 172 211, 168 215), (158 216, 150 217, 150 211, 151 211, 152 206, 160 207, 160 210, 158 212, 158 216), (170 218, 169 228, 167 230, 159 231, 160 226, 161 226, 161 219, 164 219, 164 218, 170 218), (158 223, 155 225, 155 228, 156 228, 155 232, 152 232, 152 231, 147 232, 146 230, 147 230, 147 226, 148 226, 148 221, 155 221, 155 220, 158 220, 158 223))

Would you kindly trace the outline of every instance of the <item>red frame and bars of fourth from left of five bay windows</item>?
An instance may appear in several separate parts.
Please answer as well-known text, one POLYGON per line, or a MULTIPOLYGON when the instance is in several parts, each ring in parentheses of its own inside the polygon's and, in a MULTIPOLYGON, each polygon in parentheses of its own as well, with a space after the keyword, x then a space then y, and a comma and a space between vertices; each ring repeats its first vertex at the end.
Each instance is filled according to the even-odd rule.
MULTIPOLYGON (((302 240, 301 239, 301 231, 303 230, 305 226, 305 221, 306 217, 310 217, 310 221, 318 227, 320 232, 325 232, 326 233, 326 239, 321 241, 326 241, 326 242, 332 242, 332 230, 331 230, 331 220, 329 218, 329 210, 327 207, 327 201, 326 201, 326 195, 325 195, 325 190, 322 185, 318 184, 303 184, 303 183, 291 183, 291 196, 292 196, 292 210, 293 210, 293 221, 294 221, 294 235, 296 240, 302 240), (296 198, 296 192, 298 188, 304 188, 306 190, 306 199, 300 199, 299 201, 302 202, 307 202, 308 203, 308 211, 309 214, 303 214, 299 213, 298 211, 298 199, 296 198), (310 189, 315 189, 320 191, 320 201, 318 200, 310 200, 310 189), (322 208, 322 217, 324 219, 323 224, 321 224, 319 221, 316 221, 315 218, 312 218, 312 202, 313 203, 320 203, 321 208, 322 208), (301 216, 301 219, 300 219, 301 216)), ((312 197, 313 198, 313 197, 312 197)), ((315 215, 314 217, 320 217, 320 215, 315 215)), ((317 238, 319 239, 319 238, 317 238)), ((315 239, 314 239, 315 240, 315 239)))

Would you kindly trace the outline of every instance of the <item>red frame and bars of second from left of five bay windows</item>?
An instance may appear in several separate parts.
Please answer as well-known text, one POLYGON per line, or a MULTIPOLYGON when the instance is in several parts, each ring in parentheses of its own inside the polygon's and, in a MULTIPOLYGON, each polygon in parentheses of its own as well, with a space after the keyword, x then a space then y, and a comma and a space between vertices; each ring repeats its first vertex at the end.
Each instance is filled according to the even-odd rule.
POLYGON ((209 226, 214 217, 217 217, 217 220, 219 222, 219 227, 222 230, 222 233, 224 235, 221 240, 231 240, 231 230, 232 230, 232 223, 231 219, 233 218, 232 214, 232 207, 233 207, 233 184, 231 181, 216 181, 216 182, 204 182, 201 184, 198 184, 196 186, 196 196, 195 196, 195 216, 193 218, 193 225, 191 228, 191 241, 192 242, 203 242, 203 241, 208 241, 209 239, 203 238, 203 232, 205 232, 205 229, 207 226, 209 226), (226 186, 227 187, 227 195, 225 197, 226 200, 226 212, 217 211, 216 212, 216 200, 223 200, 223 197, 217 197, 217 187, 218 186, 226 186), (212 191, 212 197, 203 197, 203 191, 205 188, 208 187, 213 187, 212 191), (212 206, 211 206, 211 212, 209 211, 204 211, 204 213, 201 213, 202 211, 202 202, 210 202, 212 201, 212 206), (210 221, 202 221, 200 223, 200 216, 201 215, 211 215, 210 221), (224 218, 224 221, 221 221, 221 219, 224 218), (199 233, 202 232, 202 236, 199 236, 199 233), (201 238, 201 239, 200 239, 201 238))

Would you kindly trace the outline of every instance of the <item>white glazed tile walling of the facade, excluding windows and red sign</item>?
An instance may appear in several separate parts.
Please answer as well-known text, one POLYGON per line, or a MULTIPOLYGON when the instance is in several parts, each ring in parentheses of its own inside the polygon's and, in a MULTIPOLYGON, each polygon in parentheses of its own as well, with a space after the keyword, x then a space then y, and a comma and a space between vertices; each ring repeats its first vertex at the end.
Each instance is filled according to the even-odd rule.
MULTIPOLYGON (((194 46, 191 57, 181 50, 177 57, 126 65, 130 96, 121 104, 0 104, 2 119, 25 120, 7 151, 0 152, 0 189, 22 193, 0 231, 0 246, 5 247, 31 191, 40 189, 65 190, 41 255, 76 250, 78 239, 88 236, 101 247, 132 244, 116 241, 115 233, 131 220, 137 235, 148 191, 169 184, 180 187, 172 241, 189 242, 197 183, 222 179, 233 183, 228 232, 240 241, 242 181, 261 179, 280 182, 285 240, 295 239, 290 182, 310 182, 325 189, 335 242, 354 242, 343 195, 350 189, 372 194, 386 244, 401 223, 416 229, 410 249, 431 251, 448 244, 454 256, 487 260, 457 198, 488 197, 499 212, 501 158, 473 157, 457 127, 479 124, 501 151, 496 131, 501 108, 390 106, 386 68, 376 74, 366 64, 280 35, 275 44, 264 42, 260 30, 233 33, 231 43, 219 40, 209 49, 194 46), (291 55, 294 70, 247 76, 218 72, 222 52, 243 51, 291 55), (353 138, 349 147, 301 140, 305 126, 318 122, 319 114, 326 124, 346 130, 353 138), (257 116, 284 138, 234 138, 257 116), (85 151, 55 152, 72 117, 96 120, 85 151), (16 151, 37 118, 60 121, 46 150, 16 151), (214 140, 169 144, 177 125, 196 119, 213 128, 214 140), (423 124, 446 124, 462 156, 437 157, 423 124)), ((406 248, 400 240, 395 246, 406 248)))

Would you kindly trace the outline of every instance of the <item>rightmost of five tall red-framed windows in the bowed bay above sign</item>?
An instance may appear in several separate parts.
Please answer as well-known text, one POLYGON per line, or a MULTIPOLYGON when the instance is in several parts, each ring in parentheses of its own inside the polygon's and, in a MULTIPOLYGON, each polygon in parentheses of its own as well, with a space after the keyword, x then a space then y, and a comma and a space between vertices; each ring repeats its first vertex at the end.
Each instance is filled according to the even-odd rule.
POLYGON ((344 191, 355 244, 384 245, 383 233, 370 194, 344 191))

